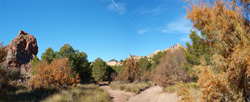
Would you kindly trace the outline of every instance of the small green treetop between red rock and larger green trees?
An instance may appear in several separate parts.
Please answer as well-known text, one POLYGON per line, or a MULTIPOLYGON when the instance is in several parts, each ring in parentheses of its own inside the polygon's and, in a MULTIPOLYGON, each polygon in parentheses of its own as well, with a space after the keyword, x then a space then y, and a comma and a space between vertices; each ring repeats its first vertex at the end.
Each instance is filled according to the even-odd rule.
POLYGON ((48 63, 51 63, 51 61, 55 58, 55 52, 54 50, 49 47, 46 49, 46 51, 41 56, 42 60, 47 61, 48 63))

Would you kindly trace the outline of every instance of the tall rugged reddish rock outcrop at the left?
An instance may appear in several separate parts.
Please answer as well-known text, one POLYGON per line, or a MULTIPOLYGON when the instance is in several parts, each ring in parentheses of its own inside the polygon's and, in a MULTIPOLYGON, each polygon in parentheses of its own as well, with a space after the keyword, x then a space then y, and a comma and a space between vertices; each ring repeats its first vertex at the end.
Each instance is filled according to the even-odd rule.
POLYGON ((6 68, 18 68, 21 74, 30 76, 30 60, 38 53, 36 38, 22 30, 6 47, 7 56, 3 65, 6 68))

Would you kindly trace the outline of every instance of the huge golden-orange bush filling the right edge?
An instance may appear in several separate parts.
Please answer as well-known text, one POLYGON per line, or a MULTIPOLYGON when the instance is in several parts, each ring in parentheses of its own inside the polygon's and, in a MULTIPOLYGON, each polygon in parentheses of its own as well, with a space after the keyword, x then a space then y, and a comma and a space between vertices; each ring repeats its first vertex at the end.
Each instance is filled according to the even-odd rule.
POLYGON ((191 3, 187 15, 215 53, 211 65, 199 66, 202 99, 250 101, 249 0, 205 1, 191 3))

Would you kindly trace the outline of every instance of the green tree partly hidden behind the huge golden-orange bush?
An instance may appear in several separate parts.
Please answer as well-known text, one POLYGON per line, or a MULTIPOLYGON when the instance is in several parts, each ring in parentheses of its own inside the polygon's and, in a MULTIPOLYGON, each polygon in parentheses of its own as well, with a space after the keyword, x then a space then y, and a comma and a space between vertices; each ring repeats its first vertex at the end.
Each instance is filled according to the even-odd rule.
POLYGON ((194 66, 200 65, 201 58, 205 58, 208 64, 212 56, 211 48, 205 43, 205 39, 197 34, 197 31, 192 31, 189 35, 192 44, 186 43, 186 50, 184 50, 187 63, 184 67, 191 75, 193 81, 197 81, 198 77, 194 74, 194 66))

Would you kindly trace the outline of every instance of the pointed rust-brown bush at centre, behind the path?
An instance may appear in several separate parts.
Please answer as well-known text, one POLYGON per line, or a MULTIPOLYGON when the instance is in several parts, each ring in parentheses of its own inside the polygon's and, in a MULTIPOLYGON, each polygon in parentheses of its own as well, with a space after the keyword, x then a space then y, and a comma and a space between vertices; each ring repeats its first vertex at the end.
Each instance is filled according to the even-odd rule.
POLYGON ((125 69, 118 74, 116 80, 130 83, 139 81, 141 77, 141 71, 138 62, 134 59, 134 57, 131 56, 131 58, 127 59, 127 61, 123 64, 125 69))

